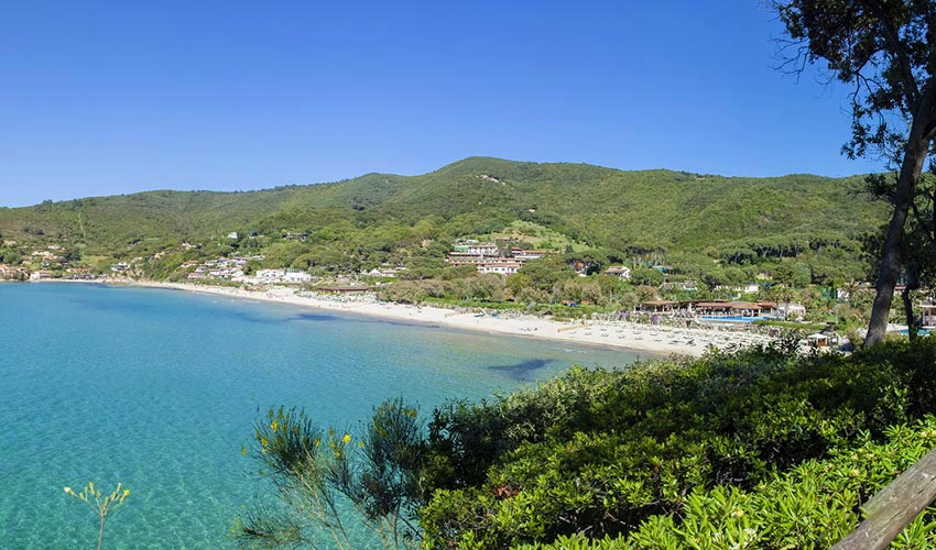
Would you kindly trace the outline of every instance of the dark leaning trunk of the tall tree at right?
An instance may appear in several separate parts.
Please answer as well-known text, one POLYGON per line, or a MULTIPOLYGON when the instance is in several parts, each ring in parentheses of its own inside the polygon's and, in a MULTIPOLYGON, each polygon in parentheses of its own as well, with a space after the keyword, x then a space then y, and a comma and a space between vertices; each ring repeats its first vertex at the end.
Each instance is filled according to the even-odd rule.
POLYGON ((888 234, 884 238, 884 246, 881 251, 881 271, 878 274, 877 296, 871 308, 871 321, 868 323, 868 336, 864 338, 864 346, 874 345, 884 339, 888 330, 888 317, 891 312, 891 302, 894 298, 894 287, 901 275, 901 248, 903 245, 904 224, 907 211, 916 189, 916 182, 923 172, 923 164, 929 152, 930 131, 928 127, 933 121, 930 101, 926 103, 917 116, 914 117, 913 128, 907 140, 904 152, 897 187, 894 190, 894 213, 888 224, 888 234))

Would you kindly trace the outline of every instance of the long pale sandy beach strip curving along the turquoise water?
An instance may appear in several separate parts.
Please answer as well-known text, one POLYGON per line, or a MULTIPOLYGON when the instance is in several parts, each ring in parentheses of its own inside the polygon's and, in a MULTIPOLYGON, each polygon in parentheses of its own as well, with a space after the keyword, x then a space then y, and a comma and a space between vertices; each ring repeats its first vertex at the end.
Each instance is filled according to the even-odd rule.
POLYGON ((560 322, 535 316, 478 317, 475 310, 457 311, 437 307, 417 307, 380 302, 370 297, 338 297, 303 293, 293 288, 271 287, 265 290, 246 290, 209 285, 181 283, 133 282, 129 286, 165 288, 198 294, 224 296, 231 299, 250 299, 314 309, 344 311, 393 320, 476 330, 496 334, 574 342, 586 345, 618 348, 652 355, 701 355, 708 345, 731 348, 766 343, 768 337, 712 329, 654 327, 628 321, 560 322))

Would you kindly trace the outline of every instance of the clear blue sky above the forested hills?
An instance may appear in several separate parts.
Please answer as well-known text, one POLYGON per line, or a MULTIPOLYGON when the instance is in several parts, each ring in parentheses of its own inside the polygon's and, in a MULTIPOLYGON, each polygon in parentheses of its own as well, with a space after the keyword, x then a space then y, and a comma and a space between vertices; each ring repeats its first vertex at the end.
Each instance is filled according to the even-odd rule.
POLYGON ((846 88, 759 0, 4 2, 0 205, 422 174, 470 155, 829 176, 846 88))

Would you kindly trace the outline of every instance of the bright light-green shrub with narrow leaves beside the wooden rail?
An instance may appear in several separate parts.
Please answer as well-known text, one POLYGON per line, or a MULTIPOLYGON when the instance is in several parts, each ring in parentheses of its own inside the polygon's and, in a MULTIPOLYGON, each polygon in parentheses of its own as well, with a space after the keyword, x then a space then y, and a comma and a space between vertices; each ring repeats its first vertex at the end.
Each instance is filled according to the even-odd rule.
MULTIPOLYGON (((936 418, 888 430, 886 441, 868 435, 849 451, 809 460, 777 473, 751 491, 732 486, 694 490, 678 515, 651 516, 630 537, 592 540, 559 537, 524 550, 618 550, 681 548, 829 548, 858 524, 856 509, 936 447, 936 418)), ((936 546, 936 508, 930 507, 892 548, 936 546)))

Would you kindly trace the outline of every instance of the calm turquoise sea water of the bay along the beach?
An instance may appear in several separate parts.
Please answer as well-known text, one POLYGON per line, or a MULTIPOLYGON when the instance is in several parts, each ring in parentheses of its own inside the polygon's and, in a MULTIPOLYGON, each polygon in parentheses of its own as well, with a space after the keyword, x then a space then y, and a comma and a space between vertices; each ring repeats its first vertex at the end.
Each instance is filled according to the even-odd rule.
POLYGON ((0 284, 0 548, 94 548, 63 493, 130 487, 105 548, 235 548, 270 406, 353 427, 387 397, 480 398, 635 354, 100 285, 0 284))

